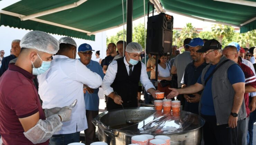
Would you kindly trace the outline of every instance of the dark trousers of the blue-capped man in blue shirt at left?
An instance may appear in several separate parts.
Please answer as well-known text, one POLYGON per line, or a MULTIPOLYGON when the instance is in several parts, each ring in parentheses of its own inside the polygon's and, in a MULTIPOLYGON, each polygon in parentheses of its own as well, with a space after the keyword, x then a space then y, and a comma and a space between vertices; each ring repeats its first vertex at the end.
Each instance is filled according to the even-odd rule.
POLYGON ((97 115, 99 115, 98 111, 92 111, 92 110, 85 110, 86 112, 86 119, 88 123, 88 128, 84 131, 85 134, 85 143, 86 145, 90 145, 93 142, 96 142, 96 134, 95 129, 96 127, 92 124, 92 119, 95 118, 97 115))

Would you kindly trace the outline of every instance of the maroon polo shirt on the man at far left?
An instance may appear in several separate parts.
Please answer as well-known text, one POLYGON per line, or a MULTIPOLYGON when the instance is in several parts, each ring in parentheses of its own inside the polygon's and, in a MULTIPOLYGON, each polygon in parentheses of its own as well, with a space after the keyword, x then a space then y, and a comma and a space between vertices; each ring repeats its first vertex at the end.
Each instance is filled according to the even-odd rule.
MULTIPOLYGON (((0 78, 0 134, 4 145, 32 145, 23 134, 19 118, 39 112, 39 119, 45 119, 33 78, 31 73, 14 64, 9 64, 0 78)), ((49 141, 41 143, 48 144, 49 141)))

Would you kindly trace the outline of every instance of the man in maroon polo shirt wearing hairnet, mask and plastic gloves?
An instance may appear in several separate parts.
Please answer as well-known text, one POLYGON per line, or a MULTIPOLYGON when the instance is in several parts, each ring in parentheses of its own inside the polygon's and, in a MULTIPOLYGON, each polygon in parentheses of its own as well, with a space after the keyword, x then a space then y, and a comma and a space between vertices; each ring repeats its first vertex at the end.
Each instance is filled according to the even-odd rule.
POLYGON ((59 49, 58 40, 42 31, 28 32, 16 63, 0 78, 0 134, 4 145, 48 145, 48 139, 70 119, 71 108, 47 109, 39 101, 33 75, 43 74, 59 49), (54 110, 55 109, 55 110, 54 110), (49 112, 55 114, 49 115, 49 112))

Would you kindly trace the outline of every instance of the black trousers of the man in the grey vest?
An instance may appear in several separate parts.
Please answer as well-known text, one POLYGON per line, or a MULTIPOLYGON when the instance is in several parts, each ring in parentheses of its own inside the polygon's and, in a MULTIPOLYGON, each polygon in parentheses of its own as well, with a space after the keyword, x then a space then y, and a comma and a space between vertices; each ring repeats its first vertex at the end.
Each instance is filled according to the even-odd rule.
POLYGON ((238 127, 216 125, 216 116, 201 115, 205 119, 203 139, 205 145, 237 145, 238 127))

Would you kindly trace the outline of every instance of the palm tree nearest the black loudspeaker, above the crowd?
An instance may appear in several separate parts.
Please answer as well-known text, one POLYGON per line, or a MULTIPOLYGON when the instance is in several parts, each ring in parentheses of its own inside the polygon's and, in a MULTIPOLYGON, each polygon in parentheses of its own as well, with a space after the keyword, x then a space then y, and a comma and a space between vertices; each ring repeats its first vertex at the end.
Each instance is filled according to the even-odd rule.
POLYGON ((186 23, 186 26, 181 30, 182 40, 186 38, 196 38, 198 33, 195 27, 192 26, 192 23, 186 23))

